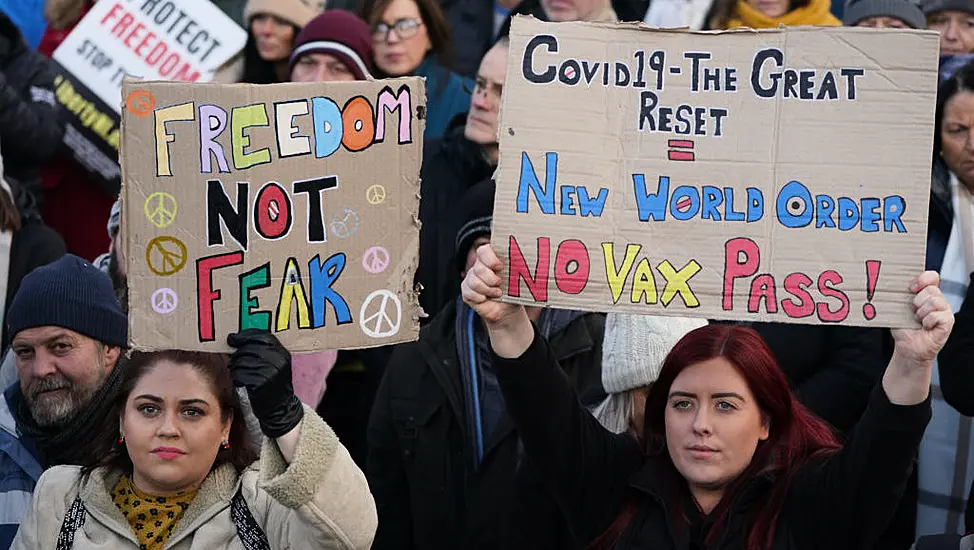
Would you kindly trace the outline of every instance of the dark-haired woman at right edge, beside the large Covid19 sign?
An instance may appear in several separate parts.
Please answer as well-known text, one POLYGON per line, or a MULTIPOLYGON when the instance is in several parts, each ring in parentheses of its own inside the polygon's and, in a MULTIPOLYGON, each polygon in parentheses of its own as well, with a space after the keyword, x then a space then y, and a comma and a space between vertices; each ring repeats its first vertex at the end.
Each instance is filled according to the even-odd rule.
MULTIPOLYGON (((940 86, 933 165, 927 269, 940 273, 944 295, 954 311, 959 311, 974 272, 974 63, 940 86)), ((969 313, 964 318, 970 319, 969 313)), ((969 330, 959 324, 951 340, 963 338, 969 330)), ((945 348, 946 362, 938 358, 933 380, 934 391, 942 391, 947 402, 934 401, 933 420, 920 447, 918 535, 964 532, 963 508, 952 503, 953 497, 967 494, 974 475, 970 452, 974 425, 957 411, 974 413, 970 405, 974 379, 966 372, 971 370, 972 357, 958 355, 952 344, 948 342, 945 348)), ((968 523, 966 529, 972 528, 968 523)))

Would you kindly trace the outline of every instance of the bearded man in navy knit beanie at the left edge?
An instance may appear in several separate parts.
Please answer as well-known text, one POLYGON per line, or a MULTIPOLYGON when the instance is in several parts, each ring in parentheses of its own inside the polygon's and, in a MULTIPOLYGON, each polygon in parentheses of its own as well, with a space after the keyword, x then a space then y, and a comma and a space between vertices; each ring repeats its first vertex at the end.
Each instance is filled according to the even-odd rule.
POLYGON ((24 278, 7 323, 19 380, 0 396, 0 549, 45 469, 85 465, 85 443, 117 395, 128 339, 111 280, 72 255, 24 278))

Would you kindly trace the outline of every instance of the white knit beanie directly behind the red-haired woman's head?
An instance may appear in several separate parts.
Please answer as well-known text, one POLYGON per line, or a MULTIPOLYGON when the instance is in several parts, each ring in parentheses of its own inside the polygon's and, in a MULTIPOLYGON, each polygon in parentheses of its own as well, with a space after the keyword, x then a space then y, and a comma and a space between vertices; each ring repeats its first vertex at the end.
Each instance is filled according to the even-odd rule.
POLYGON ((602 386, 606 393, 655 382, 673 346, 706 324, 706 319, 610 313, 602 341, 602 386))

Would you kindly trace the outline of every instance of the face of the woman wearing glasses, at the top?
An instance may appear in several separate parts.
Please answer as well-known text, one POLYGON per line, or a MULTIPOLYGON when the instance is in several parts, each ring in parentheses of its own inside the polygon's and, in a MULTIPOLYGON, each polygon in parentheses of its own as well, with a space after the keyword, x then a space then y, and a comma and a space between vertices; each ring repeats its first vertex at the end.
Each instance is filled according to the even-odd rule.
POLYGON ((433 44, 413 0, 392 0, 372 29, 375 64, 389 76, 412 74, 433 44))

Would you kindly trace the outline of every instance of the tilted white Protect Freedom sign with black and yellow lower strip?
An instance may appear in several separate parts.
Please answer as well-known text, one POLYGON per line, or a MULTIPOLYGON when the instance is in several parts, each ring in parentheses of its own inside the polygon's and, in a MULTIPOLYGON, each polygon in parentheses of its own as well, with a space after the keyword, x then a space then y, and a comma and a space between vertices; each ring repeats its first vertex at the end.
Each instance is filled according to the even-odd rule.
POLYGON ((116 193, 124 77, 207 82, 246 41, 247 31, 209 0, 95 3, 54 51, 65 144, 116 193))

